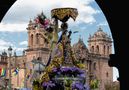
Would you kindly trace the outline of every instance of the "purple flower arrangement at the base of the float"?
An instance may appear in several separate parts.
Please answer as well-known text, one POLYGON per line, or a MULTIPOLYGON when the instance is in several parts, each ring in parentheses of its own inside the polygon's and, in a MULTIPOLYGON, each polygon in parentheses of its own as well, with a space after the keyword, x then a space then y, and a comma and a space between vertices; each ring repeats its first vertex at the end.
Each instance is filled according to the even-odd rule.
POLYGON ((43 88, 54 88, 57 86, 57 83, 60 84, 63 80, 64 84, 62 87, 64 87, 66 90, 87 90, 83 89, 86 77, 85 71, 78 67, 62 66, 59 68, 52 68, 52 72, 49 73, 49 77, 50 81, 42 83, 43 88), (78 81, 81 78, 81 82, 73 83, 73 78, 77 79, 75 81, 78 81))

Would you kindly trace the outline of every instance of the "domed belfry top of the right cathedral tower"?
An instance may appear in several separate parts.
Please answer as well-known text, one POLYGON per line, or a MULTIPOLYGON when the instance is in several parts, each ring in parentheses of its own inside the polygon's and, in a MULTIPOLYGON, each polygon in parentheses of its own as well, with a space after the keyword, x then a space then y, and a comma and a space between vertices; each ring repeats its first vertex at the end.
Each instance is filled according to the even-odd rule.
POLYGON ((90 53, 103 56, 109 56, 112 53, 111 37, 103 32, 101 27, 98 28, 93 36, 89 36, 88 43, 90 53))

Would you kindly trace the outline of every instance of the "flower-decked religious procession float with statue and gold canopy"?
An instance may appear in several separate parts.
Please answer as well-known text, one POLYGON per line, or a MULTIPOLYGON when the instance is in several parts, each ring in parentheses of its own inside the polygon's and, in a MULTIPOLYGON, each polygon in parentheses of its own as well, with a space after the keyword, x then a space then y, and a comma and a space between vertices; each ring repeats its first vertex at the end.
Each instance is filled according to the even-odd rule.
POLYGON ((89 90, 85 65, 74 55, 70 39, 72 31, 68 30, 67 21, 69 18, 75 21, 77 16, 76 8, 56 8, 51 10, 51 20, 44 13, 36 18, 35 22, 46 30, 46 42, 50 43, 51 51, 44 72, 33 81, 33 90, 89 90))

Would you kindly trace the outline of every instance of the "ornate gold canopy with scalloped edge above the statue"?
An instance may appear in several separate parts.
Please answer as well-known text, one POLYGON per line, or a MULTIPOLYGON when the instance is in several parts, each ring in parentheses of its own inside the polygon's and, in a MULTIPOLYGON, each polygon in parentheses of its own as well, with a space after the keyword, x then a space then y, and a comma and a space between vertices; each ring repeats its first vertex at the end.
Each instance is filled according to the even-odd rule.
POLYGON ((75 21, 78 11, 76 8, 56 8, 51 11, 51 16, 62 22, 66 22, 70 17, 75 21))

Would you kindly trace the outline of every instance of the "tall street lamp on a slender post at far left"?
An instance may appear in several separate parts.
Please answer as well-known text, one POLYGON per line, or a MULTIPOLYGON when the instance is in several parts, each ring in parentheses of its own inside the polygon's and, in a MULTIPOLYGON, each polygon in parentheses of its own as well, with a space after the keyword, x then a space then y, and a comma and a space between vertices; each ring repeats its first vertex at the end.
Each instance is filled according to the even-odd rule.
POLYGON ((8 54, 9 54, 9 90, 12 90, 11 87, 11 55, 12 55, 12 48, 9 46, 8 48, 8 54))

